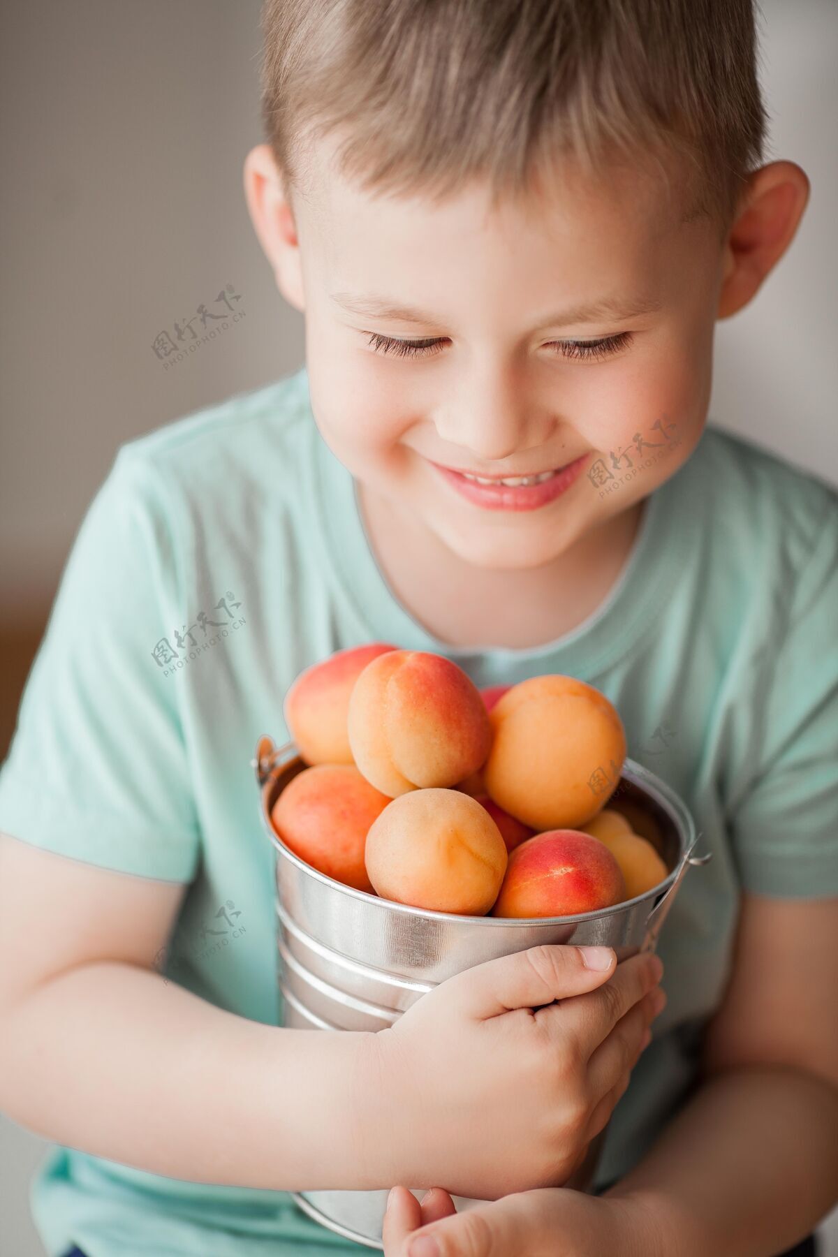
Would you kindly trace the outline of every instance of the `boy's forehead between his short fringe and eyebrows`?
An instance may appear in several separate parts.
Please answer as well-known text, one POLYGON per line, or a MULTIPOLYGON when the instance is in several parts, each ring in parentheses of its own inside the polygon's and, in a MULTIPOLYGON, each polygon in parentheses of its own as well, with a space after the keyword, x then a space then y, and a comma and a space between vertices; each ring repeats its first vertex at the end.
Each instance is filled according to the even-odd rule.
POLYGON ((299 214, 300 239, 340 288, 435 293, 467 275, 482 295, 494 284, 508 299, 510 288, 584 287, 604 272, 637 287, 695 234, 686 181, 650 163, 612 162, 593 176, 558 158, 494 204, 480 180, 445 199, 364 190, 342 175, 335 147, 330 137, 309 143, 299 214))

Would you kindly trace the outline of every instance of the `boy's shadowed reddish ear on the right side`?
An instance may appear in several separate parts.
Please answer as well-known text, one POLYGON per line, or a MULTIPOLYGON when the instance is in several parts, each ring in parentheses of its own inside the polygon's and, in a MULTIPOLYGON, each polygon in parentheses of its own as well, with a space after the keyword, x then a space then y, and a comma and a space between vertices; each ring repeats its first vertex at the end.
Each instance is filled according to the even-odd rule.
POLYGON ((783 256, 809 200, 809 178, 793 161, 774 161, 749 176, 724 249, 716 318, 736 314, 783 256))

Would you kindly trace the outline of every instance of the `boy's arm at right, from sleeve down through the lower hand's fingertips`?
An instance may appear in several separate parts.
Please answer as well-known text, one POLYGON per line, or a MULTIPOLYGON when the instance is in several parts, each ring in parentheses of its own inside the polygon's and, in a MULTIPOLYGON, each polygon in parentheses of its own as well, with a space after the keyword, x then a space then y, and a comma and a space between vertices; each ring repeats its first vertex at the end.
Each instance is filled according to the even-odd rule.
POLYGON ((438 1257, 619 1252, 774 1257, 838 1194, 838 899, 743 897, 734 973, 704 1079, 643 1160, 601 1197, 519 1192, 456 1214, 400 1185, 386 1257, 433 1236, 438 1257))

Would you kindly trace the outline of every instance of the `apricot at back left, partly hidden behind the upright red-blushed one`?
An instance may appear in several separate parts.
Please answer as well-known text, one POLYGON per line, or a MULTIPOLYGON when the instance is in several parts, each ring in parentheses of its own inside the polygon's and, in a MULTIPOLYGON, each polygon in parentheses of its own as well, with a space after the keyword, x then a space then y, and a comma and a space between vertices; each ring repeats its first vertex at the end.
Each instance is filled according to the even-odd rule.
POLYGON ((307 764, 351 764, 347 733, 349 695, 367 664, 396 650, 383 642, 349 646, 299 674, 285 694, 283 714, 307 764))

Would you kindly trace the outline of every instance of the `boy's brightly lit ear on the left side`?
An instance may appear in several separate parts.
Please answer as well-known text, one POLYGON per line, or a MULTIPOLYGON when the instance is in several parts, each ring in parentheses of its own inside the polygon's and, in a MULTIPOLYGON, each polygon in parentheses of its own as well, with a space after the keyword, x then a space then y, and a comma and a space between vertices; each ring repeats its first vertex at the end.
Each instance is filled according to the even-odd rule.
POLYGON ((245 199, 250 219, 271 265, 280 293, 302 310, 305 307, 303 272, 290 189, 283 178, 270 145, 256 145, 245 158, 245 199))

